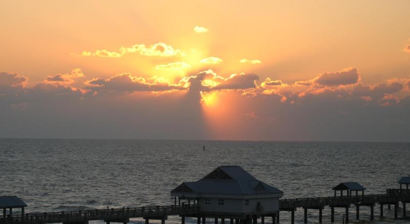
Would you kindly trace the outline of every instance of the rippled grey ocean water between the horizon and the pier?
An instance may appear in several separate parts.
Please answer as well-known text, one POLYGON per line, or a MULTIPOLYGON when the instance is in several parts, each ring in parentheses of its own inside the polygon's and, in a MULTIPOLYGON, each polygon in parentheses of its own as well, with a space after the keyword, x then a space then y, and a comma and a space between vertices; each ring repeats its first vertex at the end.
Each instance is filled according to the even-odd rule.
MULTIPOLYGON (((170 205, 174 187, 222 165, 242 166, 284 191, 283 198, 332 196, 331 188, 347 181, 377 194, 410 175, 410 143, 0 139, 0 195, 21 197, 27 212, 170 205)), ((409 221, 393 220, 393 209, 379 220, 378 205, 374 211, 376 220, 370 222, 369 209, 361 207, 359 222, 409 221)), ((343 213, 335 209, 336 223, 343 213)), ((355 207, 349 217, 355 222, 355 207)), ((281 223, 289 220, 290 213, 281 212, 281 223)), ((308 222, 318 220, 318 212, 308 210, 308 222)), ((303 209, 295 221, 303 223, 303 209)), ((329 208, 323 221, 330 222, 329 208)), ((180 218, 168 217, 166 223, 180 218)))

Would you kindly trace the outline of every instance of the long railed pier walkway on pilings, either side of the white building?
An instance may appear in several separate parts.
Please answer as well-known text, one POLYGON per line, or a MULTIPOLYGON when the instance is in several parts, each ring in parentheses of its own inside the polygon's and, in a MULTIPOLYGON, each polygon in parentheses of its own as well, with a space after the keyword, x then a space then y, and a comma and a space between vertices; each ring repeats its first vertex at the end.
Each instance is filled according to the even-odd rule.
MULTIPOLYGON (((406 203, 410 203, 410 191, 402 189, 388 189, 386 194, 369 194, 356 196, 334 196, 315 198, 295 198, 282 199, 279 202, 280 211, 291 212, 291 223, 294 224, 294 212, 297 208, 304 209, 305 223, 307 223, 307 210, 319 210, 319 223, 322 223, 322 210, 325 206, 331 209, 331 221, 334 222, 334 208, 346 208, 346 222, 349 222, 349 207, 356 206, 356 219, 359 219, 359 207, 370 206, 370 219, 373 219, 373 207, 376 203, 380 205, 380 215, 383 216, 383 205, 394 205, 394 216, 397 218, 399 203, 403 205, 403 217, 406 217, 406 203)), ((27 213, 23 215, 8 215, 0 218, 0 224, 86 224, 88 221, 103 220, 107 224, 128 223, 130 218, 143 218, 145 224, 149 220, 161 220, 165 223, 167 216, 178 215, 182 217, 182 224, 185 223, 185 216, 198 217, 198 224, 201 220, 200 207, 198 205, 165 205, 165 206, 145 206, 145 207, 123 207, 107 208, 79 211, 61 211, 44 213, 27 213)), ((205 220, 205 218, 203 218, 205 220)), ((215 222, 217 223, 217 218, 215 222)), ((221 223, 225 222, 221 219, 221 223)), ((232 219, 231 219, 232 222, 232 219)), ((265 217, 261 216, 261 223, 264 224, 265 217)), ((235 224, 236 224, 235 220, 235 224)), ((239 223, 239 222, 238 222, 239 223)), ((279 223, 279 212, 272 214, 272 223, 279 223)))

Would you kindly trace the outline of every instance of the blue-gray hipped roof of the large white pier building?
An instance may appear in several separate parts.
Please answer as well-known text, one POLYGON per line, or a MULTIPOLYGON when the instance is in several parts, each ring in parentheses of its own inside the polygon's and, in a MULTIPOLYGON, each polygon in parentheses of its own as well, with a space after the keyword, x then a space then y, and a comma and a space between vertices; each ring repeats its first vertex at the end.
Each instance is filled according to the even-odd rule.
POLYGON ((282 194, 283 191, 257 180, 239 166, 218 167, 201 180, 184 182, 171 192, 195 192, 200 194, 282 194))

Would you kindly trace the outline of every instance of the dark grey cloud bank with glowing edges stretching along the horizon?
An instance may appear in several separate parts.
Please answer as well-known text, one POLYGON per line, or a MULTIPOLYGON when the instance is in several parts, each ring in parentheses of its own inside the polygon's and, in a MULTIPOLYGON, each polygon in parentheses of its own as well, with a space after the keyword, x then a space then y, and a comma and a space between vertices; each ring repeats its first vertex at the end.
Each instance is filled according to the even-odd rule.
POLYGON ((74 69, 33 84, 2 72, 0 87, 1 137, 410 141, 410 78, 365 85, 356 68, 294 83, 212 70, 87 80, 74 69))

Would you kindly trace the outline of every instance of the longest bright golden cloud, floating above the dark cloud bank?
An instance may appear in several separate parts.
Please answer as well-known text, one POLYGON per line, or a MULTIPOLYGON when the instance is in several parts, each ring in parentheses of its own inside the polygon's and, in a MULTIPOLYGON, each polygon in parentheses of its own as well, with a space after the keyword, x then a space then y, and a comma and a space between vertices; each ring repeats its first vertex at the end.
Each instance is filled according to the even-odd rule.
POLYGON ((127 53, 139 53, 144 56, 185 56, 184 52, 179 49, 174 49, 170 45, 159 42, 146 47, 144 44, 135 44, 132 47, 121 47, 119 52, 107 50, 96 50, 94 52, 83 51, 82 56, 99 56, 99 57, 121 57, 127 53))

